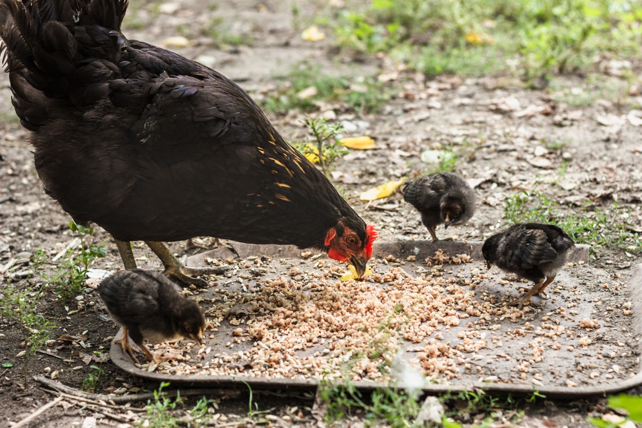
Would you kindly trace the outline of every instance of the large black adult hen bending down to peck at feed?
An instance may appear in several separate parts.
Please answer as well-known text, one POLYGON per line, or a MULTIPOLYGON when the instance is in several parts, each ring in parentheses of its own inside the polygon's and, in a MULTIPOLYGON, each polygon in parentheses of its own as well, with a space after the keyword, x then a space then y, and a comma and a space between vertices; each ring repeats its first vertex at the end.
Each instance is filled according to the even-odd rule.
MULTIPOLYGON (((376 238, 252 98, 198 62, 128 40, 126 0, 0 0, 13 106, 45 192, 95 222, 135 269, 144 240, 216 236, 326 251, 363 274, 376 238)), ((204 281, 199 282, 204 285, 204 281)))

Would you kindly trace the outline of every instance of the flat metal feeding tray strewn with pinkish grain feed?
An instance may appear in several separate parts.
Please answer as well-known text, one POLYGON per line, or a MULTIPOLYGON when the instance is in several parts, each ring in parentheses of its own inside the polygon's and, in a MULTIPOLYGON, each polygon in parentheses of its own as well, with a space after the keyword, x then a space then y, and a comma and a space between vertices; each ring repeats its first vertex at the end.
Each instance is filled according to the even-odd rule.
POLYGON ((340 281, 345 264, 325 255, 233 247, 187 259, 229 268, 209 289, 191 290, 214 325, 202 348, 154 346, 157 355, 176 348, 187 361, 150 367, 112 344, 112 361, 138 377, 191 387, 313 389, 323 379, 363 389, 577 397, 642 383, 642 266, 629 279, 607 274, 587 264, 586 245, 548 298, 535 296, 523 310, 504 303, 530 284, 487 271, 481 242, 382 242, 363 281, 340 281))

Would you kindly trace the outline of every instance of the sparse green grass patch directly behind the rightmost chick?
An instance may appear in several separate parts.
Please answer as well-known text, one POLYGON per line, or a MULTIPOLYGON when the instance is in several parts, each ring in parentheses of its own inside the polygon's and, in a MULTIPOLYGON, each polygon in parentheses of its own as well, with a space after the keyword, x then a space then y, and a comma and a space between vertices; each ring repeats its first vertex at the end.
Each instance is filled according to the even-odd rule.
POLYGON ((619 247, 642 251, 642 237, 626 229, 630 224, 629 210, 613 204, 610 208, 589 210, 552 201, 539 190, 516 193, 504 206, 505 220, 510 224, 541 222, 555 224, 568 233, 576 244, 592 247, 619 247))

